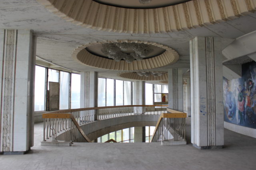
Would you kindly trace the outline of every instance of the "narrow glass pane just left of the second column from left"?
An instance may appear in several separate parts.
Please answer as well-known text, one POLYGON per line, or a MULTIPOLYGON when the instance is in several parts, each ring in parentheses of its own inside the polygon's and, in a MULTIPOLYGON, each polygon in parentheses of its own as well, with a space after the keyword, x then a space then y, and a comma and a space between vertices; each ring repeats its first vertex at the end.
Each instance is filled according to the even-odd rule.
POLYGON ((71 109, 80 108, 80 74, 71 74, 71 109))

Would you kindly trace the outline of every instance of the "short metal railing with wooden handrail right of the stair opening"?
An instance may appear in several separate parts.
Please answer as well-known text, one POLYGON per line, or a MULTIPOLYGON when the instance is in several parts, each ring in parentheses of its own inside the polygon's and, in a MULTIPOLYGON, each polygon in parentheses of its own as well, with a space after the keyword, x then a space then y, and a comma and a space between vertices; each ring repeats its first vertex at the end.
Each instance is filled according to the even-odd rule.
POLYGON ((185 141, 187 114, 169 108, 167 108, 167 111, 170 113, 161 113, 151 142, 185 141), (169 137, 168 134, 170 134, 169 137))

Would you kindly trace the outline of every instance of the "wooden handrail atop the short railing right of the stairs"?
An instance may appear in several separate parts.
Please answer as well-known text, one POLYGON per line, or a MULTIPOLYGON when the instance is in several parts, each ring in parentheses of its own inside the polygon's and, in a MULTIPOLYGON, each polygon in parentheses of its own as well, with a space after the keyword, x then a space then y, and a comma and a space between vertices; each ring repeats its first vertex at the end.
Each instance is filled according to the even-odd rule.
MULTIPOLYGON (((170 113, 161 113, 161 115, 156 123, 156 127, 155 127, 154 133, 152 135, 151 142, 153 141, 153 139, 156 135, 156 132, 159 129, 160 123, 163 121, 164 118, 186 118, 187 117, 187 114, 184 112, 181 112, 181 111, 176 111, 176 110, 173 110, 170 108, 167 108, 167 111, 169 111, 170 113)), ((164 125, 164 122, 162 122, 162 125, 164 125)), ((185 132, 183 132, 183 133, 185 133, 185 132)))

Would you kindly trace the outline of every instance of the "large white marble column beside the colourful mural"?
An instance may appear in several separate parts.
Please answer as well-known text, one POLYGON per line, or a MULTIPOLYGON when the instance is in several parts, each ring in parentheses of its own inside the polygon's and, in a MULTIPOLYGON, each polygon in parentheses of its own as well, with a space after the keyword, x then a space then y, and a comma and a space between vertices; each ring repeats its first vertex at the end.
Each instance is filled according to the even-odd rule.
POLYGON ((224 145, 221 47, 219 37, 190 40, 191 142, 198 149, 224 145))

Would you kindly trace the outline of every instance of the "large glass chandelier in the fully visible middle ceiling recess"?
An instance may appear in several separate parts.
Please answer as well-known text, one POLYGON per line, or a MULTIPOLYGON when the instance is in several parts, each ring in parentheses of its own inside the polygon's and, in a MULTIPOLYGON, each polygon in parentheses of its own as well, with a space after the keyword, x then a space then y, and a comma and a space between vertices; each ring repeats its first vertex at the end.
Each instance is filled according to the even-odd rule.
POLYGON ((134 60, 141 61, 154 50, 144 43, 104 43, 101 51, 115 61, 123 59, 127 63, 132 63, 134 60))

